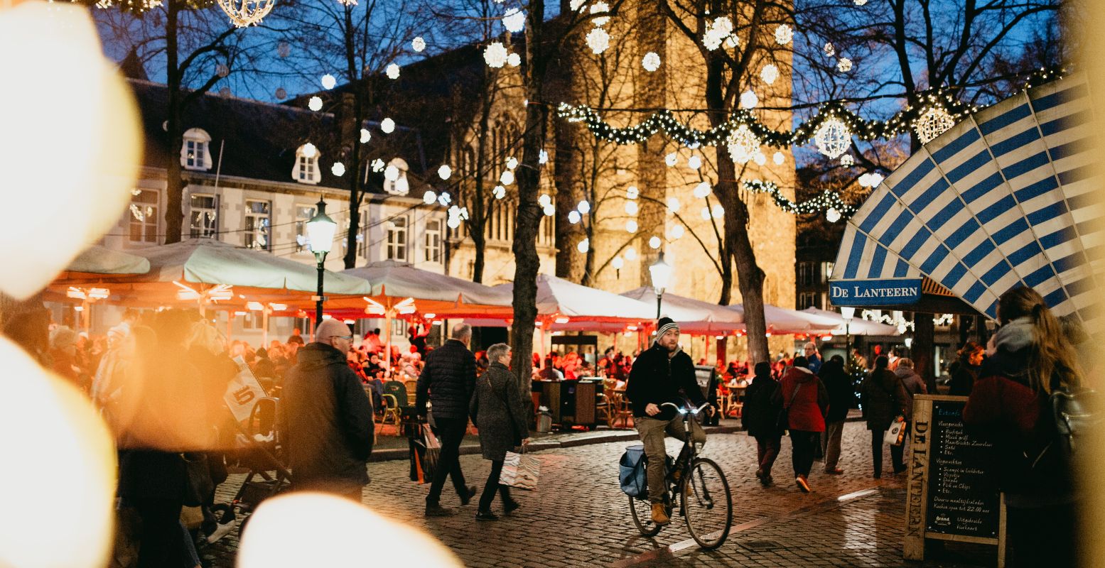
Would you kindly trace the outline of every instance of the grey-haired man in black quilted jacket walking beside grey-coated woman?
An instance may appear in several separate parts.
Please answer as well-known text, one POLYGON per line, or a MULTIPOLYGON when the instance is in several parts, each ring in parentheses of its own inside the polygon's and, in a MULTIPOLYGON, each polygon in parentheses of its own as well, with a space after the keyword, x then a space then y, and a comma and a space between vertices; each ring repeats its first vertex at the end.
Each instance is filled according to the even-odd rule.
POLYGON ((453 514, 439 504, 445 476, 453 480, 453 488, 461 497, 461 505, 467 505, 476 494, 476 488, 464 484, 464 472, 459 460, 461 441, 469 428, 469 402, 476 383, 476 358, 469 350, 472 341, 472 326, 460 324, 453 327, 452 338, 445 345, 430 351, 425 367, 418 378, 418 396, 414 408, 418 416, 425 418, 425 403, 433 404, 433 421, 441 436, 441 454, 433 471, 430 494, 425 497, 425 516, 442 517, 453 514))

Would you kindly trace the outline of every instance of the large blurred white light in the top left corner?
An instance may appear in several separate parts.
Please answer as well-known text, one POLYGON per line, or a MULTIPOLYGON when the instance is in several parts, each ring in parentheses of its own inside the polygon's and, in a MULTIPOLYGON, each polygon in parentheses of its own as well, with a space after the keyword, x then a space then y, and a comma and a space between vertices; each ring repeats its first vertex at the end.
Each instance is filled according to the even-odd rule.
POLYGON ((69 3, 4 6, 0 2, 4 194, 50 203, 49 223, 42 215, 13 214, 0 225, 4 242, 19 243, 0 251, 0 291, 23 299, 118 223, 135 187, 140 134, 134 96, 104 59, 87 10, 69 3), (28 83, 19 77, 34 77, 35 108, 65 111, 28 112, 28 83))

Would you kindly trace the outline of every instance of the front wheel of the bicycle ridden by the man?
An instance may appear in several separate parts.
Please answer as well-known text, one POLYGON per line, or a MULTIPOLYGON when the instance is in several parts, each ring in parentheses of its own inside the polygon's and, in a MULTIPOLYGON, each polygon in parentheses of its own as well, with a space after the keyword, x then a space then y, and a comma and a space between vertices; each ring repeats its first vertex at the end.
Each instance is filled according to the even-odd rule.
POLYGON ((733 527, 733 495, 722 469, 711 460, 696 459, 691 477, 683 484, 683 519, 698 546, 713 550, 725 543, 733 527))

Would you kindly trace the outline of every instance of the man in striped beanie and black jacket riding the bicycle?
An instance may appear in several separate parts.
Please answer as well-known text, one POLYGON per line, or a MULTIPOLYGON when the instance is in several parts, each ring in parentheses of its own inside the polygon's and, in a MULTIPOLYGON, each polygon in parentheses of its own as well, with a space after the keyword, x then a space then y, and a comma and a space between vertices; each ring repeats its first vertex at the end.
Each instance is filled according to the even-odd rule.
MULTIPOLYGON (((657 525, 671 523, 664 511, 664 434, 670 433, 681 441, 687 433, 683 419, 672 407, 690 398, 696 407, 706 402, 695 381, 694 364, 691 356, 680 349, 680 326, 669 317, 656 322, 656 343, 641 353, 633 361, 625 386, 625 397, 633 406, 633 423, 644 443, 644 455, 649 459, 649 501, 652 503, 652 522, 657 525)), ((707 409, 711 416, 714 408, 707 409)), ((683 454, 680 454, 682 463, 683 454)))

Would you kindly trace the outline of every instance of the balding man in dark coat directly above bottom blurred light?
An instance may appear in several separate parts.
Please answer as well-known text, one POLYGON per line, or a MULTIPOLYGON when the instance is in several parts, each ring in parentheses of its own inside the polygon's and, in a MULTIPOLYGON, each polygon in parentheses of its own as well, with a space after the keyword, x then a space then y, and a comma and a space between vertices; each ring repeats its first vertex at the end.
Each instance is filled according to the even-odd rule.
POLYGON ((299 349, 284 379, 282 430, 296 490, 328 491, 360 502, 369 482, 372 403, 346 365, 349 327, 327 319, 299 349))

